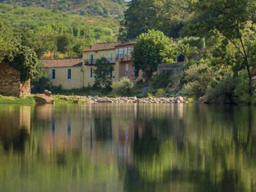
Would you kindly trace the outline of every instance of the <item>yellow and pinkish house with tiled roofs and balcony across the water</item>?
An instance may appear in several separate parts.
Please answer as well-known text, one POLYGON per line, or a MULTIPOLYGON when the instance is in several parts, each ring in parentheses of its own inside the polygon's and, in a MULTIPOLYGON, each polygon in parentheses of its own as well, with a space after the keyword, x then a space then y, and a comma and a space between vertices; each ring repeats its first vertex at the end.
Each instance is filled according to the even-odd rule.
POLYGON ((113 81, 128 77, 133 81, 142 79, 142 72, 134 78, 132 48, 135 41, 122 43, 96 43, 84 49, 82 59, 41 60, 52 85, 62 85, 64 89, 92 86, 95 82, 96 60, 105 57, 113 65, 113 81))

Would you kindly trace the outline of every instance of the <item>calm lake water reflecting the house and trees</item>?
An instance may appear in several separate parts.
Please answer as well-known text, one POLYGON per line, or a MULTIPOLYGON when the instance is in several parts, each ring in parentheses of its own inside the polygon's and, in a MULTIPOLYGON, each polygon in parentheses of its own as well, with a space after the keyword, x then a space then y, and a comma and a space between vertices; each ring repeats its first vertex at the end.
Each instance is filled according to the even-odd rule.
POLYGON ((0 105, 0 191, 256 191, 255 113, 0 105))

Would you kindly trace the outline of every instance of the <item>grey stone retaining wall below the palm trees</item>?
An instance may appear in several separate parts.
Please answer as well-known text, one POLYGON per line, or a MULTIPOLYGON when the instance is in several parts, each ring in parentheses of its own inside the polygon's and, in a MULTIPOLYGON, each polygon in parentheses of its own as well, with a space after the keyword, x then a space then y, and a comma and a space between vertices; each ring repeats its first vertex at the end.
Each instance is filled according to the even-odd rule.
POLYGON ((171 88, 173 90, 177 89, 179 86, 179 83, 181 83, 181 79, 184 75, 184 67, 185 62, 178 62, 175 64, 160 64, 158 66, 158 73, 169 73, 172 77, 172 82, 171 82, 171 88))

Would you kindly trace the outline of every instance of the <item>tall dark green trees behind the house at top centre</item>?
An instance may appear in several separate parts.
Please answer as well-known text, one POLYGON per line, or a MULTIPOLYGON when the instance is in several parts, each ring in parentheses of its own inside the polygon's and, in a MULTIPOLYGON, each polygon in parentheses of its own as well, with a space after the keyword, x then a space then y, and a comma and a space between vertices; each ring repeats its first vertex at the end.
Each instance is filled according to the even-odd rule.
POLYGON ((132 0, 124 12, 119 40, 132 40, 148 30, 161 30, 177 38, 189 16, 186 0, 132 0))

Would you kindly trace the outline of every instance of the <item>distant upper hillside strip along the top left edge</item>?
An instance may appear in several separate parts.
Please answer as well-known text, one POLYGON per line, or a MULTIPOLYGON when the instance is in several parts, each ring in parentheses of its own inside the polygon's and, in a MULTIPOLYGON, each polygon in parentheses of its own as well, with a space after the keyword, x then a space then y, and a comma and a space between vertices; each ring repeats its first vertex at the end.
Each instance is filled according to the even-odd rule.
POLYGON ((113 18, 122 17, 126 7, 124 0, 0 0, 0 3, 43 7, 79 15, 108 15, 113 18))

